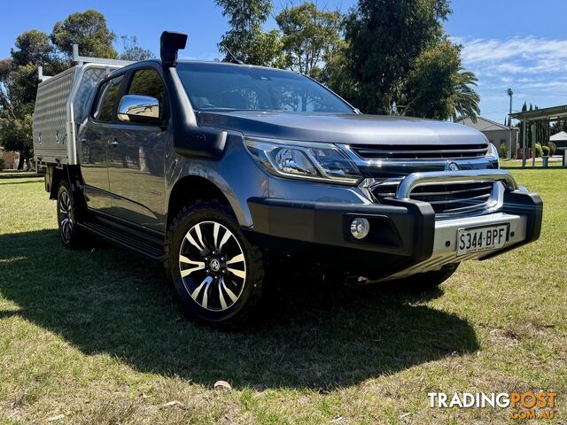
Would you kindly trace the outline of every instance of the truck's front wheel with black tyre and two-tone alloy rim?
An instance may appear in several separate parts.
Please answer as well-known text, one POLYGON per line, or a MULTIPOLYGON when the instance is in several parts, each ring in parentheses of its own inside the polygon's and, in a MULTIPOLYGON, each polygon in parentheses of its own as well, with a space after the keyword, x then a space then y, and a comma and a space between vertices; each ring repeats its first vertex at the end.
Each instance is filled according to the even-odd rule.
POLYGON ((261 297, 262 255, 228 207, 214 201, 183 208, 166 247, 167 272, 184 311, 222 327, 250 319, 261 297))

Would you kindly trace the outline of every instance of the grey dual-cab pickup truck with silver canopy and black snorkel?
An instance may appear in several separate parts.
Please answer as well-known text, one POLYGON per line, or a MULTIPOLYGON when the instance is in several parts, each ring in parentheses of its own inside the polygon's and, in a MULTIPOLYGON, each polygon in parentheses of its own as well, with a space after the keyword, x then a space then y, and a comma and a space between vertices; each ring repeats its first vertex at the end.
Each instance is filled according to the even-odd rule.
POLYGON ((540 197, 478 131, 361 114, 291 71, 178 61, 186 40, 129 64, 76 53, 39 86, 34 149, 63 243, 163 262, 195 319, 250 318, 268 257, 426 288, 540 236, 540 197))

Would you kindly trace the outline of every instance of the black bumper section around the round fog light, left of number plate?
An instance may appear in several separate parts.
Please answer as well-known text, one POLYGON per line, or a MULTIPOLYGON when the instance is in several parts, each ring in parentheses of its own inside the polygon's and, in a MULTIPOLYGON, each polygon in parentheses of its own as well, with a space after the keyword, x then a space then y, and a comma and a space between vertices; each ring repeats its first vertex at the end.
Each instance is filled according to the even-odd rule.
POLYGON ((389 199, 383 205, 260 198, 248 199, 253 231, 278 238, 321 243, 407 257, 418 262, 431 257, 435 213, 431 205, 389 199), (370 233, 357 240, 350 233, 355 217, 370 222, 370 233))

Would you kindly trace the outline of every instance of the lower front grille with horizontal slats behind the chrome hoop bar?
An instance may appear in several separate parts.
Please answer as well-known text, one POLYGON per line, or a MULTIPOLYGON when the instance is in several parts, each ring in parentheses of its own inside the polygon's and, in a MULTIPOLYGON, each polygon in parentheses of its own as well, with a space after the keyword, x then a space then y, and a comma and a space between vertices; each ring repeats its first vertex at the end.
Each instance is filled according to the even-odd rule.
MULTIPOLYGON (((384 181, 370 189, 377 202, 395 197, 400 180, 384 181)), ((494 182, 451 182, 417 186, 410 198, 431 204, 437 214, 476 213, 484 211, 493 197, 494 182)))

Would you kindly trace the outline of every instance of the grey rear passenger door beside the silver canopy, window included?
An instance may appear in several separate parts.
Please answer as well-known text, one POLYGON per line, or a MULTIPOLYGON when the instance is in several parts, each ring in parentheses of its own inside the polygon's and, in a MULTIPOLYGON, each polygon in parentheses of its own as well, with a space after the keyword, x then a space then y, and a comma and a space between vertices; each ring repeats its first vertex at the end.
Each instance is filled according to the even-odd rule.
POLYGON ((123 76, 120 75, 101 84, 80 135, 85 198, 89 208, 97 211, 108 212, 111 207, 107 151, 113 139, 113 121, 122 81, 123 76))

